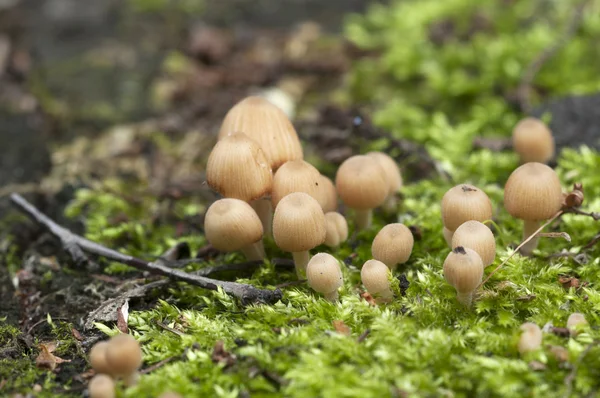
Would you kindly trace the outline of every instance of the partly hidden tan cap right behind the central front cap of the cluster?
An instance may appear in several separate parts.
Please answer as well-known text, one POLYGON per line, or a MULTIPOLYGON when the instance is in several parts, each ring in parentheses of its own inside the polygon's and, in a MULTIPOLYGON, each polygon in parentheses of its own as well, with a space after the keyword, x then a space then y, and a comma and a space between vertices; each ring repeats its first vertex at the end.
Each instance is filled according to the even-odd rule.
POLYGON ((320 183, 321 174, 310 163, 304 160, 291 160, 284 163, 273 176, 271 192, 273 208, 277 207, 284 196, 294 192, 307 193, 321 204, 325 196, 319 186, 320 183))

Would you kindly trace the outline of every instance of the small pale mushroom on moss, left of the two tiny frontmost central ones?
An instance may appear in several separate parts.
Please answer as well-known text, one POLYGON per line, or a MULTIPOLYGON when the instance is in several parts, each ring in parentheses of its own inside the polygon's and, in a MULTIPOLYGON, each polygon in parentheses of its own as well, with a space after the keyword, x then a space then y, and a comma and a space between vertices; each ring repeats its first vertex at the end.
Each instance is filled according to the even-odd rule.
POLYGON ((329 301, 338 299, 338 289, 344 283, 340 262, 327 253, 317 253, 306 267, 308 285, 329 301))

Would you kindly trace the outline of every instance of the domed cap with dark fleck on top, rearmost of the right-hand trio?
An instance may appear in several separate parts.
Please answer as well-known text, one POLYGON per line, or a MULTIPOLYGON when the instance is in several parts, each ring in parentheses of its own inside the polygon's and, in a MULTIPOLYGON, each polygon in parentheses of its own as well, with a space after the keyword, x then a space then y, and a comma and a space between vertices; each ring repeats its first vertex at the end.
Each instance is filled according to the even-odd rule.
POLYGON ((492 202, 481 189, 460 184, 450 188, 442 198, 442 219, 450 231, 469 220, 485 221, 492 218, 492 202))

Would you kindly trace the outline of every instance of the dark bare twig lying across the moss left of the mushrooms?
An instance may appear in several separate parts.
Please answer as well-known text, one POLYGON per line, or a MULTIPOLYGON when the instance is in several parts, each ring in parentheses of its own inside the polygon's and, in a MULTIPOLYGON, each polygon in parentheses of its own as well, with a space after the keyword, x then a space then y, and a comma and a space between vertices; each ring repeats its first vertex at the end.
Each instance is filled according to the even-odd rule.
POLYGON ((225 282, 216 279, 210 279, 203 276, 189 274, 177 269, 169 268, 157 262, 148 262, 127 254, 117 252, 102 246, 96 242, 76 235, 68 229, 58 225, 48 216, 40 212, 35 206, 29 203, 19 194, 12 194, 11 201, 20 211, 27 214, 35 222, 46 227, 50 233, 60 239, 63 249, 69 253, 76 264, 85 264, 88 259, 85 252, 107 258, 131 267, 148 271, 153 274, 163 275, 170 279, 187 282, 189 284, 200 286, 204 289, 218 290, 219 288, 227 294, 230 294, 242 301, 243 304, 264 302, 275 303, 281 299, 281 291, 258 289, 251 285, 236 282, 225 282))

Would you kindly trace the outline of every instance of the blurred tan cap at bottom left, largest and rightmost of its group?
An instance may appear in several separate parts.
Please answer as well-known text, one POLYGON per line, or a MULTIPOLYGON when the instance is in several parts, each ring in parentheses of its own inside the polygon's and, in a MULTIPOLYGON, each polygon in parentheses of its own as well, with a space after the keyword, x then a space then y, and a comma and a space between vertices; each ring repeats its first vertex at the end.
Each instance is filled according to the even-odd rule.
POLYGON ((116 335, 108 342, 106 359, 112 374, 130 375, 137 371, 142 364, 140 343, 129 334, 116 335))

